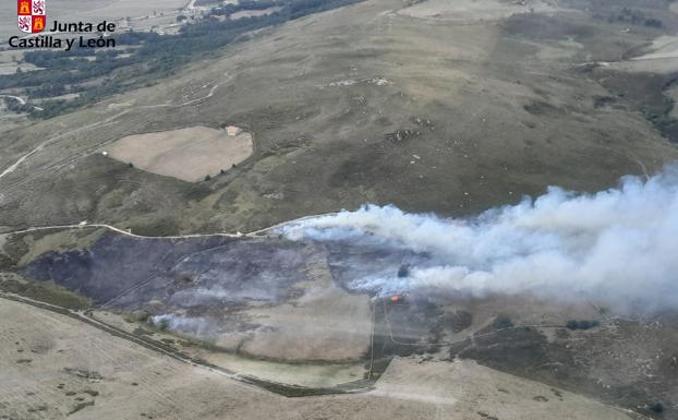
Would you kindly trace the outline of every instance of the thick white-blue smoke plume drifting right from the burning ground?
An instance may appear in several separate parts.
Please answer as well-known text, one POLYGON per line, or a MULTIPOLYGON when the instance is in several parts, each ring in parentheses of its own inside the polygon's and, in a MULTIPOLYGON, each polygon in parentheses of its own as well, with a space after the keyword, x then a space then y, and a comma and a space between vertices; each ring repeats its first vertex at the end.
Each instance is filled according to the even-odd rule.
POLYGON ((630 309, 678 305, 678 168, 646 181, 577 194, 559 188, 471 219, 366 205, 291 223, 291 239, 380 242, 427 255, 408 275, 375 274, 353 286, 382 296, 530 292, 630 309))

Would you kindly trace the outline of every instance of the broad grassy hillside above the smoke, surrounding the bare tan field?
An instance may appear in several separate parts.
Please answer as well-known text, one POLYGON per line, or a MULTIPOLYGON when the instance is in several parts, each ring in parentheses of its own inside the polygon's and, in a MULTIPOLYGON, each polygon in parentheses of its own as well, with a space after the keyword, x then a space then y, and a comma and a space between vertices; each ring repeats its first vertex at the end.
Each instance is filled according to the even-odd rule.
POLYGON ((642 112, 662 89, 617 92, 623 73, 592 64, 665 33, 676 21, 666 4, 644 9, 663 28, 580 4, 472 22, 432 4, 419 17, 370 0, 290 21, 152 86, 3 133, 0 168, 43 147, 0 179, 2 225, 247 231, 366 202, 460 215, 549 184, 606 188, 678 157, 642 112), (194 184, 99 153, 196 124, 253 132, 253 157, 194 184))

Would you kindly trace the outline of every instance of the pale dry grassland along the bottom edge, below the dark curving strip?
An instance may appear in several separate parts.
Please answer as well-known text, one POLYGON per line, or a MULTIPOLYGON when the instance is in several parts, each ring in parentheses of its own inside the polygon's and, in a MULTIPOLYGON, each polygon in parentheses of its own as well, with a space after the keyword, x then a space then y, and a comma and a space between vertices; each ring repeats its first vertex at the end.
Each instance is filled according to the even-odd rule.
POLYGON ((23 303, 0 299, 0 412, 10 418, 628 419, 473 362, 399 359, 373 393, 289 399, 23 303))

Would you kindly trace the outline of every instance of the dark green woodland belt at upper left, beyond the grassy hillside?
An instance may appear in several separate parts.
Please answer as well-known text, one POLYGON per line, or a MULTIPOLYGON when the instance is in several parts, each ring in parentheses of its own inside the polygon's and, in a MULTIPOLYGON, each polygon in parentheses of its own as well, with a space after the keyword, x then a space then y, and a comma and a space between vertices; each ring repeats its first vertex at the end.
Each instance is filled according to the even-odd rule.
MULTIPOLYGON (((245 33, 356 1, 359 0, 283 0, 275 2, 275 5, 282 9, 269 15, 234 21, 216 19, 217 15, 229 15, 239 10, 270 7, 266 2, 263 2, 263 8, 259 2, 229 4, 211 12, 206 19, 184 25, 177 35, 160 36, 142 32, 116 34, 118 49, 114 50, 104 50, 95 55, 92 49, 80 47, 70 51, 31 51, 24 56, 24 61, 44 70, 0 75, 0 92, 22 89, 31 97, 43 98, 78 94, 74 100, 57 99, 44 103, 44 110, 31 113, 35 118, 51 118, 133 87, 155 84, 158 80, 175 73, 181 65, 204 57, 209 51, 243 40, 245 33), (129 49, 131 46, 138 48, 129 49), (123 52, 128 55, 121 57, 123 52)), ((33 107, 13 106, 11 109, 33 111, 33 107)))

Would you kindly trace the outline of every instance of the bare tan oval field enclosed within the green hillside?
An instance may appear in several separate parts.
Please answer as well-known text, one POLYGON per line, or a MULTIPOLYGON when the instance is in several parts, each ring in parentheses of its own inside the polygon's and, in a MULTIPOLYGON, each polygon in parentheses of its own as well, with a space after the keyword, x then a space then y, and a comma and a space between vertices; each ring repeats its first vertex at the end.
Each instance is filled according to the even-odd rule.
POLYGON ((250 157, 252 135, 229 136, 225 130, 191 127, 125 136, 107 151, 111 157, 140 169, 195 182, 250 157))

